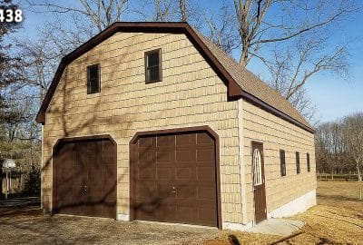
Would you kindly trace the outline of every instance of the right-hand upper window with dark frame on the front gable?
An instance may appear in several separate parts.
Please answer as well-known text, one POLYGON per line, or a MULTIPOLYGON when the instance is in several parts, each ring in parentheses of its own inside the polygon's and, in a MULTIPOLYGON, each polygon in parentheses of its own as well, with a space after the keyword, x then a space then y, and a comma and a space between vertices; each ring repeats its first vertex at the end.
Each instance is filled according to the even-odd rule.
POLYGON ((146 83, 162 81, 162 49, 145 52, 146 83))

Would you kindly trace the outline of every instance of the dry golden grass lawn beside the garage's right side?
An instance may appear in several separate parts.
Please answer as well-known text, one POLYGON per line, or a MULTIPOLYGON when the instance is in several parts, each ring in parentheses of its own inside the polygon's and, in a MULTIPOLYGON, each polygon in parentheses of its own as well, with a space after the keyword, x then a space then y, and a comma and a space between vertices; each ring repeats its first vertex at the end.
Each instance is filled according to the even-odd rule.
POLYGON ((231 235, 240 244, 363 244, 363 201, 358 194, 357 182, 319 181, 318 205, 291 217, 306 223, 293 236, 225 232, 204 245, 238 244, 230 241, 231 235))

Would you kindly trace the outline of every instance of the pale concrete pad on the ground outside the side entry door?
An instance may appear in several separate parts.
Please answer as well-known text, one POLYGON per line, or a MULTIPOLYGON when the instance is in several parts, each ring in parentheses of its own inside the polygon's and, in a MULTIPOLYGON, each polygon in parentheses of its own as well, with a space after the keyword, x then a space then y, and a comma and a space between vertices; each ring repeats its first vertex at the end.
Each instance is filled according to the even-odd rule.
POLYGON ((298 231, 304 226, 303 221, 299 220, 284 220, 284 219, 269 219, 263 220, 256 226, 246 230, 253 233, 262 233, 270 235, 289 236, 295 231, 298 231))

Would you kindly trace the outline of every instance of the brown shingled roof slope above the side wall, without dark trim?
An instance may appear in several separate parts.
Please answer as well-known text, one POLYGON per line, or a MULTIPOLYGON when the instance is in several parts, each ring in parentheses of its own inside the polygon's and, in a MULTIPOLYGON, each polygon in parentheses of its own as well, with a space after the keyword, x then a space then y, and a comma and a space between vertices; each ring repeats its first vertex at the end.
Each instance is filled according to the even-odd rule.
POLYGON ((213 44, 199 31, 194 28, 193 30, 245 93, 250 93, 250 95, 260 99, 260 101, 270 104, 270 106, 281 113, 289 115, 291 118, 312 129, 309 122, 280 93, 272 89, 268 84, 263 83, 260 78, 245 67, 238 64, 229 54, 223 52, 221 48, 213 44))

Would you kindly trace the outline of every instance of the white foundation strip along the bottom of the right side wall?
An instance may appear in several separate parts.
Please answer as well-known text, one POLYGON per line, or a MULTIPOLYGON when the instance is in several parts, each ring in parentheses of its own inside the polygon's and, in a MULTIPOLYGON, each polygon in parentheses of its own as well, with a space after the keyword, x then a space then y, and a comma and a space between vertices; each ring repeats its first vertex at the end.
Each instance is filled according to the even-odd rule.
POLYGON ((280 208, 268 213, 269 218, 289 217, 299 212, 307 211, 312 206, 317 205, 316 189, 305 193, 299 198, 289 201, 280 208))

